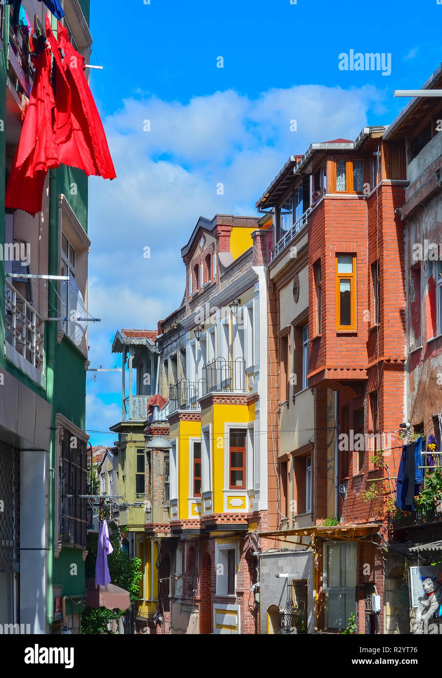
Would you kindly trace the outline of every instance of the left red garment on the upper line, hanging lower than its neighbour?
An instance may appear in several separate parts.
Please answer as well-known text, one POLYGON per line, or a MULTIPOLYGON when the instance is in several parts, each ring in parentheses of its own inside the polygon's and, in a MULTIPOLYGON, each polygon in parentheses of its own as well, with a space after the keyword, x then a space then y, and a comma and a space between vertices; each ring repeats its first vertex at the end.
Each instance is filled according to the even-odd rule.
POLYGON ((5 207, 41 212, 43 186, 50 167, 58 167, 58 151, 52 132, 54 94, 50 83, 48 48, 35 57, 35 79, 24 117, 14 163, 6 186, 5 207))

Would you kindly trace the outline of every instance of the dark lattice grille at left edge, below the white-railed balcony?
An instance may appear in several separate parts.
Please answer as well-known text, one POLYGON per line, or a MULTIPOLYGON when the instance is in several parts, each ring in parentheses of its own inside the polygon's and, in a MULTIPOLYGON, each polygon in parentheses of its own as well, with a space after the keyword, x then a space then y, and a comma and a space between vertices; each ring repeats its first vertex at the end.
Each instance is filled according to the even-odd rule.
POLYGON ((20 452, 0 441, 0 572, 20 569, 20 452))

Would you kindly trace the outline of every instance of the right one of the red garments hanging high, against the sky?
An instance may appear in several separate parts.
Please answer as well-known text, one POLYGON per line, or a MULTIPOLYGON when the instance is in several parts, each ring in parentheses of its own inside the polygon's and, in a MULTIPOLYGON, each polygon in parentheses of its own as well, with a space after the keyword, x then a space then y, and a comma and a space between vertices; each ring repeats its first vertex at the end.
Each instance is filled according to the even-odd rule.
MULTIPOLYGON (((46 17, 46 26, 48 27, 48 17, 46 17)), ((84 75, 84 58, 73 48, 67 29, 60 22, 58 22, 57 46, 65 54, 62 64, 71 88, 73 125, 71 138, 60 146, 60 161, 71 167, 79 167, 88 175, 94 174, 104 179, 115 179, 115 169, 107 146, 103 123, 84 75)))

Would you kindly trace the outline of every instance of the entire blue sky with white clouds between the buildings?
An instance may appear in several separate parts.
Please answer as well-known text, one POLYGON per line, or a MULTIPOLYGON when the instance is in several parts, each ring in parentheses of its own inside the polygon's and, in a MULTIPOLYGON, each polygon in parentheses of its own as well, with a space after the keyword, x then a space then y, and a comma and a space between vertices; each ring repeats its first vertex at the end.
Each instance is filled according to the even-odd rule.
MULTIPOLYGON (((365 125, 391 123, 409 101, 394 98, 394 89, 418 89, 442 61, 442 5, 103 5, 91 1, 91 62, 98 58, 104 67, 92 71, 91 87, 117 179, 90 179, 89 308, 102 321, 91 323, 89 344, 91 367, 119 367, 121 356, 111 353, 115 332, 155 329, 179 306, 180 247, 198 217, 253 215, 289 155, 312 142, 354 139, 365 125), (350 49, 391 54, 391 74, 339 70, 339 54, 350 49), (150 258, 143 257, 145 247, 150 258)), ((92 444, 111 445, 113 434, 92 431, 119 421, 121 374, 98 374, 87 393, 92 444)))

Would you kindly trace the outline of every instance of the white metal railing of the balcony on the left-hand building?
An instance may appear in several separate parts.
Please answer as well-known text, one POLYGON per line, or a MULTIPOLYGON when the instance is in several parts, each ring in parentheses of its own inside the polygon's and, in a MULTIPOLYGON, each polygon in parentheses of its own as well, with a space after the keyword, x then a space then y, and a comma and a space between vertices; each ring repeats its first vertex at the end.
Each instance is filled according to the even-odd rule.
POLYGON ((5 340, 37 370, 43 370, 44 321, 5 280, 5 340))

